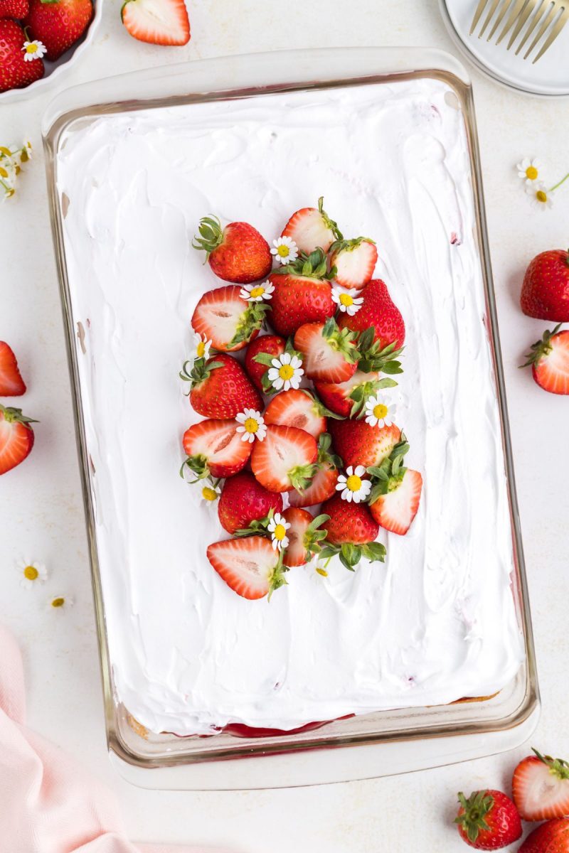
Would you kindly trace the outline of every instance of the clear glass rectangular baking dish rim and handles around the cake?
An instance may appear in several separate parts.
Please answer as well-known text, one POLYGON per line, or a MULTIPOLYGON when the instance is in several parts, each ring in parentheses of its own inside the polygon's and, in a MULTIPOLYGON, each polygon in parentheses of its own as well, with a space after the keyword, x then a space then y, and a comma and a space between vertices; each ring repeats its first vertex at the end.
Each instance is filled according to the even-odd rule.
POLYGON ((205 790, 294 786, 433 767, 513 748, 526 740, 537 725, 537 673, 486 234, 473 93, 464 67, 454 57, 433 49, 308 49, 230 56, 107 78, 67 90, 49 105, 44 115, 43 130, 90 544, 107 741, 113 763, 119 771, 137 784, 149 787, 205 790), (61 143, 69 133, 109 113, 131 113, 178 104, 255 98, 266 93, 387 83, 410 78, 433 78, 447 84, 456 96, 456 108, 462 110, 466 125, 479 259, 485 287, 485 325, 491 342, 508 482, 514 548, 512 589, 525 641, 525 662, 499 693, 483 700, 378 711, 328 722, 312 730, 288 734, 267 732, 254 738, 229 732, 207 737, 152 734, 137 724, 119 702, 109 659, 90 457, 78 376, 81 329, 78 318, 73 316, 63 240, 62 223, 67 200, 59 197, 56 189, 57 155, 61 143), (348 746, 350 749, 340 748, 348 746), (244 757, 249 761, 241 761, 244 757), (153 772, 146 772, 148 769, 153 772))

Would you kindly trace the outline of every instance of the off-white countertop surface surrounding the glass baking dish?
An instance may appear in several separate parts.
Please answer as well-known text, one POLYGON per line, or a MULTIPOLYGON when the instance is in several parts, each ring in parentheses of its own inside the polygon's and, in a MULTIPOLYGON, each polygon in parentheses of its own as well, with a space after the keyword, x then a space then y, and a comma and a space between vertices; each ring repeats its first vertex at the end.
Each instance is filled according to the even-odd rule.
MULTIPOLYGON (((67 359, 39 125, 63 85, 137 68, 271 47, 429 45, 454 52, 436 0, 194 0, 192 41, 160 48, 131 39, 119 0, 105 0, 102 26, 78 67, 41 96, 0 106, 0 144, 30 138, 36 157, 15 199, 0 206, 0 339, 13 345, 29 386, 21 404, 42 421, 32 456, 0 479, 0 612, 24 651, 28 722, 74 752, 113 786, 133 840, 226 844, 249 853, 375 853, 466 850, 451 825, 456 791, 508 791, 525 748, 471 764, 399 777, 265 792, 150 792, 128 785, 108 762, 90 593, 84 514, 73 435, 67 359), (21 589, 20 555, 44 561, 49 583, 21 589), (70 612, 48 609, 72 595, 70 612)), ((569 601, 569 400, 541 391, 517 365, 546 324, 519 307, 525 265, 569 241, 569 184, 553 208, 536 211, 514 164, 537 155, 555 183, 569 170, 566 102, 503 90, 472 71, 485 173, 502 355, 508 391, 520 516, 529 576, 543 711, 532 744, 569 757, 566 729, 566 602, 569 601)))

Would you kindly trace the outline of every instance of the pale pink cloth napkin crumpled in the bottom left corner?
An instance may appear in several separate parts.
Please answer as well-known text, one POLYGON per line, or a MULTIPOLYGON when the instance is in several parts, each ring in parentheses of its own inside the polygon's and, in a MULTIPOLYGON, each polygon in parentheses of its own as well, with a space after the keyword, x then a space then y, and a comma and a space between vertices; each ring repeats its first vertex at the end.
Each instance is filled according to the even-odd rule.
POLYGON ((0 626, 0 853, 215 853, 131 844, 112 792, 26 728, 25 708, 20 649, 0 626))

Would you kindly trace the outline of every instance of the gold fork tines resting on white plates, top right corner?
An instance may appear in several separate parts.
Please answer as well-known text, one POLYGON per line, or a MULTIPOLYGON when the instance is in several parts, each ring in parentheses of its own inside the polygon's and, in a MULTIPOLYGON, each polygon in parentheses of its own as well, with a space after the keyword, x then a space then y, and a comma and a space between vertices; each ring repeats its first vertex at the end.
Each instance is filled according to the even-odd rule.
POLYGON ((569 20, 569 0, 479 0, 479 4, 474 12, 473 23, 470 27, 470 35, 473 35, 485 10, 487 10, 487 13, 480 28, 479 38, 482 38, 487 27, 491 24, 492 18, 496 15, 491 26, 490 35, 488 36, 488 41, 490 41, 509 13, 502 27, 502 32, 500 32, 496 39, 496 44, 500 44, 508 32, 514 28, 508 41, 508 50, 513 46, 516 38, 521 35, 520 43, 515 50, 516 56, 524 48, 534 31, 537 32, 529 48, 525 51, 524 59, 527 59, 540 40, 547 36, 533 63, 537 62, 545 51, 551 47, 566 25, 567 20, 569 20), (525 27, 526 24, 527 26, 525 27), (525 32, 523 32, 524 27, 525 32))

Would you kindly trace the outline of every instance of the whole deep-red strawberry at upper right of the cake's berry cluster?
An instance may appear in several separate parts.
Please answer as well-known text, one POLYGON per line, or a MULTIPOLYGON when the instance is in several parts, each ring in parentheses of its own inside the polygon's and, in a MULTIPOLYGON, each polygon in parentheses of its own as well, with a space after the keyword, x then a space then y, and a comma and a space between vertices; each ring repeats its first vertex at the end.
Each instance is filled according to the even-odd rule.
POLYGON ((349 328, 352 332, 364 332, 374 328, 374 340, 381 347, 393 344, 401 349, 405 341, 405 324, 397 305, 394 305, 384 281, 373 278, 363 288, 363 305, 354 315, 341 314, 338 318, 340 328, 349 328))

